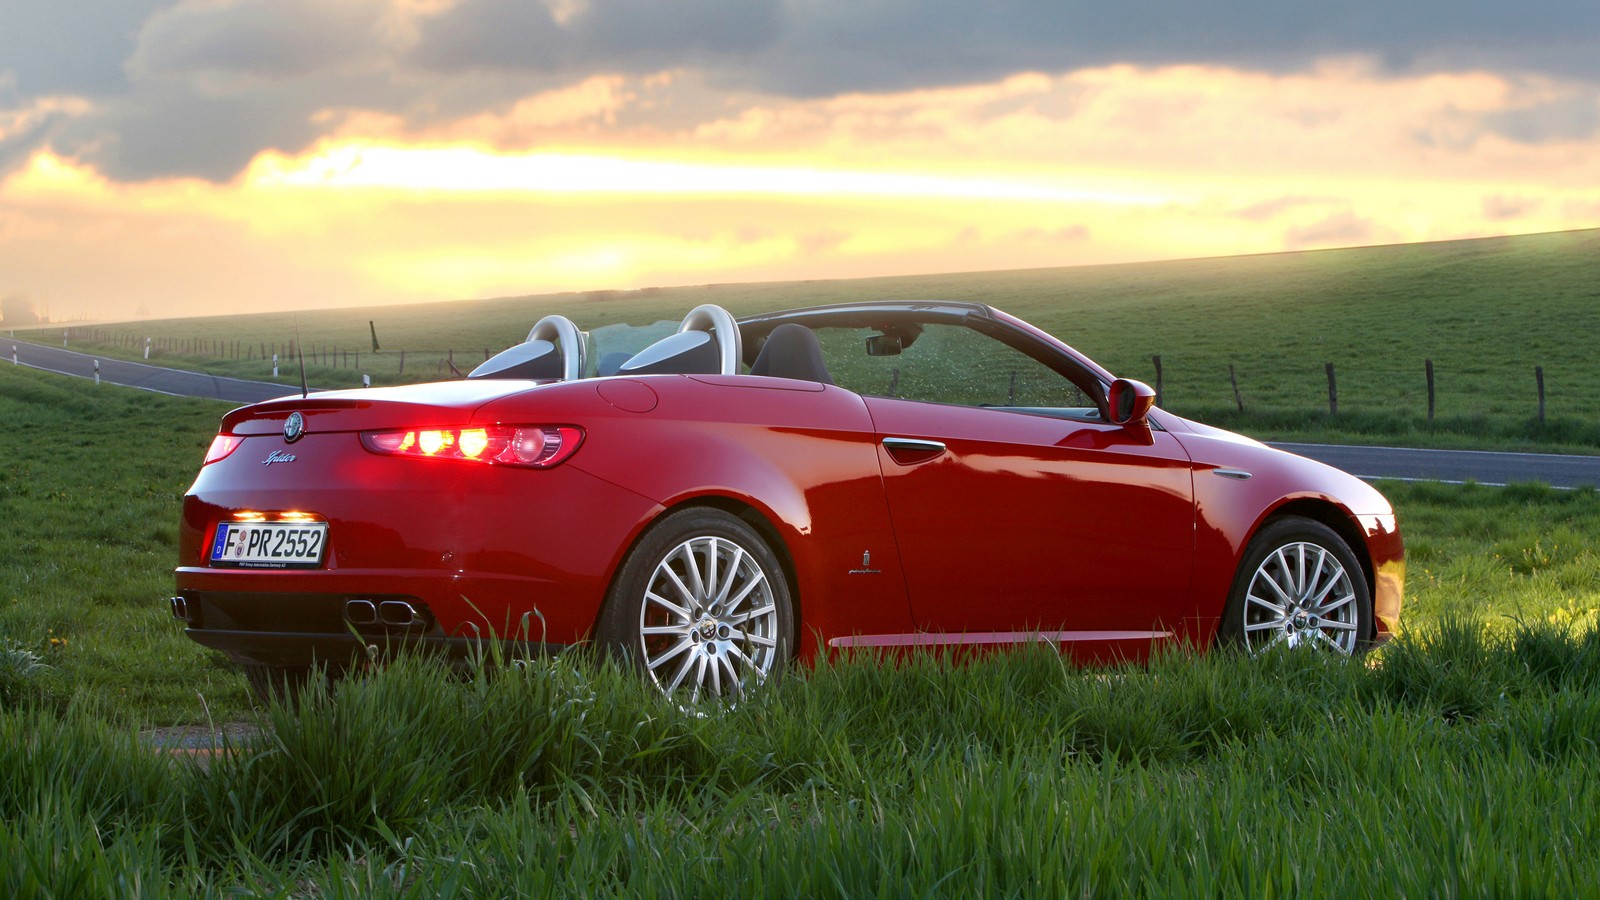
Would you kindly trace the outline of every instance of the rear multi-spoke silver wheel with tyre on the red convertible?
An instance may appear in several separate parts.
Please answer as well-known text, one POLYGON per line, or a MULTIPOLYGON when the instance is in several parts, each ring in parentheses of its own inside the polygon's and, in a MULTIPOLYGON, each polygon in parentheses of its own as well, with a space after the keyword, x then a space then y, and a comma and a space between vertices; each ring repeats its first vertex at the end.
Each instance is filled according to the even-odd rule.
POLYGON ((669 697, 739 697, 790 652, 789 585, 755 530, 718 509, 654 525, 622 564, 597 636, 669 697))

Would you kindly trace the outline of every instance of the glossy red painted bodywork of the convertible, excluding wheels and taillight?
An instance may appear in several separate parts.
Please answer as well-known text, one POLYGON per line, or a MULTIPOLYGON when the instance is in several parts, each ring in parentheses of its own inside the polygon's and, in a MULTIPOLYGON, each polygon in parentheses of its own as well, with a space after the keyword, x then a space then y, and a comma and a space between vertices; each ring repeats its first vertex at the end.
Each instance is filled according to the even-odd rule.
MULTIPOLYGON (((973 309, 1112 381, 1032 325, 973 309)), ((418 601, 430 620, 406 637, 458 649, 490 634, 587 641, 630 548, 685 504, 741 514, 768 538, 794 588, 800 658, 826 645, 1043 639, 1085 660, 1208 645, 1250 536, 1282 514, 1347 536, 1373 586, 1373 637, 1400 609, 1402 543, 1376 490, 1162 410, 1117 426, 790 378, 642 375, 285 397, 234 410, 221 432, 243 440, 184 498, 176 581, 189 634, 246 661, 358 650, 366 637, 338 618, 352 597, 418 601), (291 413, 306 431, 293 442, 291 413), (386 456, 360 439, 491 424, 576 426, 582 442, 533 469, 386 456), (213 567, 219 522, 242 512, 328 522, 322 565, 213 567)))

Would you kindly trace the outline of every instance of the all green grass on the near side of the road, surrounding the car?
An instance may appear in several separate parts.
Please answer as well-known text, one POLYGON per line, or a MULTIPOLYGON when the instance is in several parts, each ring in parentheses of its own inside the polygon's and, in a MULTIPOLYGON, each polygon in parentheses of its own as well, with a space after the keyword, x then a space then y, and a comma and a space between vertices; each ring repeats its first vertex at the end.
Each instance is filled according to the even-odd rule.
POLYGON ((1382 484, 1406 621, 1354 663, 842 655, 693 716, 581 653, 406 660, 256 708, 165 604, 222 412, 0 365, 0 895, 1600 889, 1592 490, 1382 484))

